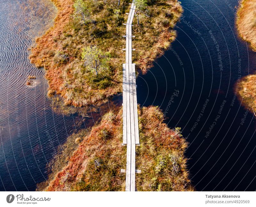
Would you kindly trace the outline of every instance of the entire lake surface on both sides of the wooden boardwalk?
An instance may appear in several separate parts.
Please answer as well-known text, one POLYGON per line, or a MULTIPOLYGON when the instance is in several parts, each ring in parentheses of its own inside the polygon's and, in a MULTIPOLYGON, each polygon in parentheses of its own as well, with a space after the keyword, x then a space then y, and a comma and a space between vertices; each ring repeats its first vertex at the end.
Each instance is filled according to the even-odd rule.
MULTIPOLYGON (((28 48, 49 22, 27 16, 17 2, 0 0, 0 190, 35 190, 58 146, 104 111, 93 109, 90 118, 72 107, 69 114, 52 109, 44 70, 28 60, 28 48), (26 86, 29 75, 36 76, 35 87, 26 86)), ((234 84, 254 72, 256 53, 237 35, 238 1, 181 2, 177 40, 138 77, 138 102, 158 105, 171 128, 181 127, 197 190, 255 190, 255 119, 237 100, 234 84)))

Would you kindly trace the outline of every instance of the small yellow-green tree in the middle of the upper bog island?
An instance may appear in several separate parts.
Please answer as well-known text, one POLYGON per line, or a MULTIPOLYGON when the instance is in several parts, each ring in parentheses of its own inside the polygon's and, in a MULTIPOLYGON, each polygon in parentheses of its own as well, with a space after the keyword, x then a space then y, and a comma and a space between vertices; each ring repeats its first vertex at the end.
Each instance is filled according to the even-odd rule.
POLYGON ((108 61, 110 59, 109 53, 102 52, 101 49, 96 46, 87 46, 82 50, 84 66, 95 71, 96 75, 98 75, 100 71, 108 69, 108 61))

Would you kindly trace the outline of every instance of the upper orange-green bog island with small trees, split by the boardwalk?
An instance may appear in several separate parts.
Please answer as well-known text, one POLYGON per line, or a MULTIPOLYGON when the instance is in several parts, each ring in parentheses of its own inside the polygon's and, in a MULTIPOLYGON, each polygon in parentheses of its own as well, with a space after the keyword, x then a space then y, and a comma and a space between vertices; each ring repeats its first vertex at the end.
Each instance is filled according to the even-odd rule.
MULTIPOLYGON (((122 91, 125 26, 129 1, 52 0, 54 26, 31 48, 31 62, 47 71, 49 93, 66 105, 101 104, 122 91)), ((175 39, 182 7, 177 0, 137 0, 133 62, 146 72, 175 39)))

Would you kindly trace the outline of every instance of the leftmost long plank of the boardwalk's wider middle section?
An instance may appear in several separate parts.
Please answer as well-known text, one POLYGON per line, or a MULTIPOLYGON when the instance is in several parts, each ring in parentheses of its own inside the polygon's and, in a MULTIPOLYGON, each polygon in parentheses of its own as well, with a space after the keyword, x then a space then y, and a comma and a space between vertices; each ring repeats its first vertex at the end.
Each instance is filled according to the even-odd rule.
POLYGON ((127 129, 126 129, 126 76, 125 64, 123 64, 123 144, 127 144, 127 129))

